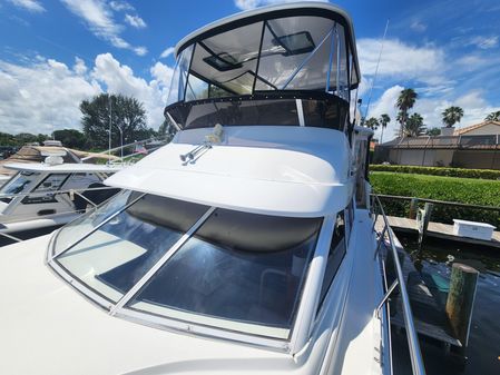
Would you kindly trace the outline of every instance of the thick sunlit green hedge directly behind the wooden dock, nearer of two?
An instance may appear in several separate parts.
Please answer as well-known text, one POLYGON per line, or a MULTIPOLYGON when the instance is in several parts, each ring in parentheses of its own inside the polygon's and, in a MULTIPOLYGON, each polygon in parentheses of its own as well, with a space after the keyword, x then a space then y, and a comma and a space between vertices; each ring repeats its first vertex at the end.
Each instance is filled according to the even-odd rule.
MULTIPOLYGON (((372 171, 370 181, 373 191, 382 195, 500 207, 500 181, 385 171, 372 171)), ((382 203, 388 215, 409 216, 409 200, 382 199, 382 203)), ((500 230, 500 210, 434 205, 432 221, 453 224, 453 219, 489 223, 494 225, 497 230, 500 230)))

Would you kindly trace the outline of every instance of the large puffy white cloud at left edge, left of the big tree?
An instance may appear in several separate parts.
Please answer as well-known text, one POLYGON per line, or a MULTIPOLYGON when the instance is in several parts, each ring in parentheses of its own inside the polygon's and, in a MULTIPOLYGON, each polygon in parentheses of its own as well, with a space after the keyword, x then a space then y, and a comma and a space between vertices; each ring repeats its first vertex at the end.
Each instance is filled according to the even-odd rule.
POLYGON ((12 134, 77 128, 79 102, 100 91, 96 81, 56 60, 29 67, 0 60, 0 128, 12 134))

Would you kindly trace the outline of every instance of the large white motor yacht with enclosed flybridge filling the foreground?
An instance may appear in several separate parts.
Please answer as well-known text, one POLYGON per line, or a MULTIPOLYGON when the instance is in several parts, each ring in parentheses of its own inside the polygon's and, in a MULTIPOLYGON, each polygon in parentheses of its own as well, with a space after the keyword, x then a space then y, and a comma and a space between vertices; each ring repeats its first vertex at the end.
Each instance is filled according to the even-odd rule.
POLYGON ((391 374, 355 46, 320 2, 183 39, 174 140, 96 210, 0 251, 0 373, 391 374))

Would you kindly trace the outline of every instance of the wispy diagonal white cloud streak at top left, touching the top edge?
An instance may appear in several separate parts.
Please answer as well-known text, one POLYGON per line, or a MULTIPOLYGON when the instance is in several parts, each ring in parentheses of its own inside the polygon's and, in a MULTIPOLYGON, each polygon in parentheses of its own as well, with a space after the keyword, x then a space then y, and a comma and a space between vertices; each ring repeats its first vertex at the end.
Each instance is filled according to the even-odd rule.
POLYGON ((124 30, 112 19, 112 11, 105 2, 98 0, 61 0, 76 16, 80 17, 90 31, 116 48, 129 49, 138 56, 147 53, 146 47, 135 47, 124 40, 119 34, 124 30))

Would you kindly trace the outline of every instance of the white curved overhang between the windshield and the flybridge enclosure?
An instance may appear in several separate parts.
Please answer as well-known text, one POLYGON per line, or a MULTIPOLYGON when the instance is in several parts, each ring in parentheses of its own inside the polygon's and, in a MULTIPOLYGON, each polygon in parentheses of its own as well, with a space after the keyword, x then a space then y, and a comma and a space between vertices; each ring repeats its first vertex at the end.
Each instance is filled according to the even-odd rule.
POLYGON ((180 156, 212 129, 184 130, 173 142, 106 184, 197 204, 263 215, 321 217, 347 205, 349 142, 313 127, 225 127, 224 140, 195 162, 180 156))

